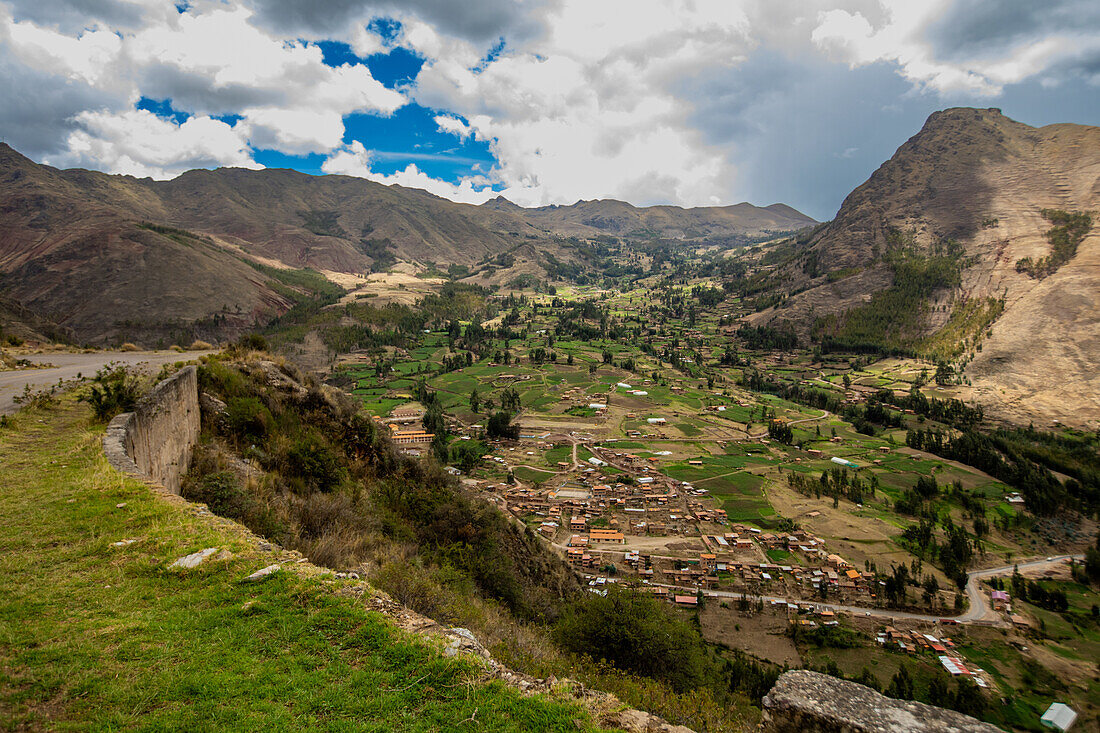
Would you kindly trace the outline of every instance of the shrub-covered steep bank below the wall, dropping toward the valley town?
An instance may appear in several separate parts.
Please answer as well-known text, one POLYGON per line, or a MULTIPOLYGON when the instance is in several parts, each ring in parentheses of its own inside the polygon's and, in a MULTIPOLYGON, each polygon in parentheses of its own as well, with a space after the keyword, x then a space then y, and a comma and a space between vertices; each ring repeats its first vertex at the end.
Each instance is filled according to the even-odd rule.
MULTIPOLYGON (((777 672, 729 661, 698 630, 648 599, 617 619, 632 639, 592 646, 607 619, 535 534, 461 488, 433 460, 397 452, 389 430, 342 393, 293 365, 238 349, 199 369, 224 403, 207 414, 184 495, 441 623, 471 628, 502 663, 534 677, 569 676, 675 723, 743 731, 777 672), (245 462, 248 461, 248 462, 245 462), (656 616, 652 611, 659 612, 656 616), (678 650, 664 654, 670 627, 678 650), (645 659, 645 661, 639 661, 645 659)), ((475 441, 455 445, 484 452, 475 441)))

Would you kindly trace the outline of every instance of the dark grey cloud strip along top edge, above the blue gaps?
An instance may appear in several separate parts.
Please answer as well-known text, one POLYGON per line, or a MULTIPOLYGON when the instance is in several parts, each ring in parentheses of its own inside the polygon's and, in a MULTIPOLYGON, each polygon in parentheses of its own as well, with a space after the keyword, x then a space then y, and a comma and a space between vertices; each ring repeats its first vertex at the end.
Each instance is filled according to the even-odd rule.
POLYGON ((475 43, 527 36, 540 26, 547 0, 253 0, 256 20, 282 32, 331 33, 372 17, 411 14, 437 31, 475 43))

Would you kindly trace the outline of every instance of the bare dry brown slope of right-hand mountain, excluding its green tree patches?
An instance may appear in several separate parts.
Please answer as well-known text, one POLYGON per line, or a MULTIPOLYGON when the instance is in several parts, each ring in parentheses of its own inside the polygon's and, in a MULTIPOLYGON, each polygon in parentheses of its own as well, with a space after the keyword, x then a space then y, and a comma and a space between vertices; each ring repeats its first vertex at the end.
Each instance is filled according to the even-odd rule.
POLYGON ((1100 128, 1032 128, 996 109, 949 109, 928 118, 810 242, 825 263, 811 280, 801 263, 791 286, 805 292, 759 320, 843 313, 889 286, 880 255, 898 234, 931 248, 963 244, 961 286, 944 293, 943 311, 927 314, 934 331, 959 298, 1003 298, 1005 310, 967 368, 972 394, 993 414, 1026 422, 1100 425, 1100 243, 1093 231, 1055 274, 1032 278, 1018 260, 1050 251, 1043 209, 1100 209, 1100 128), (826 271, 861 267, 827 283, 826 271))

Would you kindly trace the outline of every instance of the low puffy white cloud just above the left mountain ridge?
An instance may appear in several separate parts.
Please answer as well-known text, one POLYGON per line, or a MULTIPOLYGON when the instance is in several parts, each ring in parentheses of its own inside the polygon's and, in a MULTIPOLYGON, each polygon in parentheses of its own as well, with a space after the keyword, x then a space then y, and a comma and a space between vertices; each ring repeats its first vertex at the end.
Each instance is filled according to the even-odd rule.
POLYGON ((198 167, 263 167, 252 160, 240 130, 208 117, 176 124, 145 110, 87 111, 77 122, 68 149, 47 157, 47 164, 161 179, 198 167))

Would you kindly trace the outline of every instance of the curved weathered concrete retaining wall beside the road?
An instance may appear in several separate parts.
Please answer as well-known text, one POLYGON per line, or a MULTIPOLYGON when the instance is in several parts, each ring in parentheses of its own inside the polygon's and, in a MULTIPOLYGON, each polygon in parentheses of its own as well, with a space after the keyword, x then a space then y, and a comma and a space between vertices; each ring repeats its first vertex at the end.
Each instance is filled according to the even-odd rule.
POLYGON ((111 420, 107 460, 123 473, 152 480, 174 494, 199 438, 198 371, 184 366, 158 383, 132 413, 111 420))

